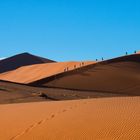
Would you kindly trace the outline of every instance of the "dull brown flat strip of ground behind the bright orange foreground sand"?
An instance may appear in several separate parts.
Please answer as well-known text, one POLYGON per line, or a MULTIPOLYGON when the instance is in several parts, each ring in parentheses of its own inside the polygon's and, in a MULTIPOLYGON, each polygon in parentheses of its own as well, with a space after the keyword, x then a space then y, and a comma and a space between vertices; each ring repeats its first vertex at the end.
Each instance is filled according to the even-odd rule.
POLYGON ((0 104, 39 101, 78 100, 102 97, 118 97, 122 94, 88 92, 46 87, 32 87, 24 84, 0 81, 0 104))

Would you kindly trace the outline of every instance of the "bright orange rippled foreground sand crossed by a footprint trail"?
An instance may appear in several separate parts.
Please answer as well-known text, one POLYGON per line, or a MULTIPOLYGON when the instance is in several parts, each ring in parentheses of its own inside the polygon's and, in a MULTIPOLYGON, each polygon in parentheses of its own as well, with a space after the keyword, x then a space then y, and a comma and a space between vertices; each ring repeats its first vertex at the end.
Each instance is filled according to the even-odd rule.
POLYGON ((140 97, 0 105, 1 140, 139 140, 140 97))

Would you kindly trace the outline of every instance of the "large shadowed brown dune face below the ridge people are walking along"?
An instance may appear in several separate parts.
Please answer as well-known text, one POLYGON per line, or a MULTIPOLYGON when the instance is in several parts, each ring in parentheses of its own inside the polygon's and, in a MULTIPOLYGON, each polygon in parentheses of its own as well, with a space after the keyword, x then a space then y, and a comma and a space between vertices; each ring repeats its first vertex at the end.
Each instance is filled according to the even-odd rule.
POLYGON ((34 86, 140 95, 140 54, 123 56, 30 83, 34 86))

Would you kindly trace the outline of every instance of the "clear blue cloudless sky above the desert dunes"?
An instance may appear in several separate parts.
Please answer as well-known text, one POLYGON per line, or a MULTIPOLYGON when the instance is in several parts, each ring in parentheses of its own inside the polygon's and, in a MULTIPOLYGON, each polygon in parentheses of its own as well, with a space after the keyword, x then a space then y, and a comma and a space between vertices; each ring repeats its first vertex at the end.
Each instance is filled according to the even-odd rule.
POLYGON ((139 0, 0 0, 0 57, 57 61, 140 50, 139 0))

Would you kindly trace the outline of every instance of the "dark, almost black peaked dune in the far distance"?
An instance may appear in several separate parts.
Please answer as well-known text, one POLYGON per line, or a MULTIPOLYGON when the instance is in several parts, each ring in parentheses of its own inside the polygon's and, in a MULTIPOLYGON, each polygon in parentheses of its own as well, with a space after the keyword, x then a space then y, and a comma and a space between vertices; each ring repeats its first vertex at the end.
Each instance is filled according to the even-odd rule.
POLYGON ((54 62, 54 61, 39 56, 35 56, 29 53, 22 53, 0 60, 0 73, 17 69, 21 66, 50 63, 50 62, 54 62))

